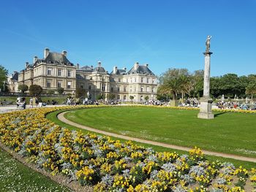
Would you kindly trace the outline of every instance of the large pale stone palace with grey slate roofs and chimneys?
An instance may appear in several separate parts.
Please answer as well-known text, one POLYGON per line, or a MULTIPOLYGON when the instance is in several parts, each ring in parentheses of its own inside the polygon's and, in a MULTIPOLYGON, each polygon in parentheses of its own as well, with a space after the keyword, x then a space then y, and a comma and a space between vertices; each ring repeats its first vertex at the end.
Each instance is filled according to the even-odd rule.
POLYGON ((44 58, 35 56, 33 64, 26 63, 18 74, 18 84, 40 85, 45 93, 58 88, 64 88, 65 93, 75 93, 76 88, 83 88, 91 99, 98 95, 108 98, 112 94, 118 100, 130 101, 132 96, 133 101, 143 101, 146 96, 148 99, 157 96, 157 76, 148 69, 148 64, 137 62, 129 71, 114 66, 109 73, 100 61, 95 67, 80 67, 67 59, 67 51, 55 53, 48 48, 44 58))

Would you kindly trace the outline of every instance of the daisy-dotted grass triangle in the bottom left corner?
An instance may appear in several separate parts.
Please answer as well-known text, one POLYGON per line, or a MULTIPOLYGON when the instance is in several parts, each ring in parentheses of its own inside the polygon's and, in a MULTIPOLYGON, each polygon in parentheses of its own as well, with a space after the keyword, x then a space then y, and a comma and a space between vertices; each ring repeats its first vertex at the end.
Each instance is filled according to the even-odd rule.
POLYGON ((70 191, 34 172, 0 148, 0 191, 70 191))

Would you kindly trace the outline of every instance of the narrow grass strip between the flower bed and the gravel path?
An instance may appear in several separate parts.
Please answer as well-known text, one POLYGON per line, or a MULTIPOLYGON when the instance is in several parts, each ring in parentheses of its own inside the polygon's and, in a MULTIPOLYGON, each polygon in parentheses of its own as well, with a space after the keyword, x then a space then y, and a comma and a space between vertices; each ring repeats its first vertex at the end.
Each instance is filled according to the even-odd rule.
MULTIPOLYGON (((56 123, 57 125, 59 125, 61 127, 68 128, 69 130, 82 131, 83 134, 94 133, 94 132, 91 132, 91 131, 86 131, 86 130, 81 129, 81 128, 77 128, 75 126, 69 126, 68 124, 63 123, 58 118, 56 118, 56 116, 60 112, 64 112, 64 111, 66 111, 66 110, 51 112, 46 116, 46 118, 48 118, 49 120, 53 121, 54 123, 56 123)), ((100 134, 98 134, 98 135, 100 135, 100 134)), ((118 139, 118 138, 111 137, 111 139, 118 139)), ((126 142, 126 140, 124 140, 124 139, 118 139, 118 140, 120 140, 121 142, 126 142)), ((164 152, 164 151, 174 152, 174 151, 176 151, 176 153, 178 153, 178 154, 188 154, 187 151, 183 151, 183 150, 174 150, 174 149, 170 149, 170 148, 166 148, 166 147, 148 145, 148 144, 140 143, 140 142, 134 142, 134 143, 137 144, 137 145, 142 145, 144 147, 151 147, 151 148, 153 148, 154 150, 156 150, 158 152, 164 152)), ((246 169, 251 169, 252 167, 255 167, 255 163, 248 162, 248 161, 238 161, 238 160, 235 160, 235 159, 232 159, 232 158, 221 158, 221 157, 216 157, 216 156, 212 156, 212 155, 206 155, 206 158, 209 161, 217 161, 218 160, 218 161, 221 161, 221 162, 230 162, 230 163, 233 163, 236 167, 243 166, 246 169)))

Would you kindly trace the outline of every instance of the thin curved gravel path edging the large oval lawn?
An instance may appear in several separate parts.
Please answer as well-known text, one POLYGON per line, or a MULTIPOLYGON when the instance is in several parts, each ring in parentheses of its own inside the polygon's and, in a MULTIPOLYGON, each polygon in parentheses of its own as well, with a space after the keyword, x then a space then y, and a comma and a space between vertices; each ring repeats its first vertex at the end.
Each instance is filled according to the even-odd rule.
MULTIPOLYGON (((87 131, 93 131, 93 132, 96 132, 96 133, 99 133, 99 134, 105 134, 105 135, 108 135, 108 136, 111 136, 111 137, 116 137, 116 138, 120 138, 120 139, 127 139, 127 140, 146 143, 146 144, 150 144, 150 145, 157 145, 157 146, 160 146, 160 147, 167 147, 167 148, 171 148, 171 149, 175 149, 175 150, 185 150, 185 151, 191 150, 191 147, 181 147, 181 146, 178 146, 178 145, 170 145, 170 144, 166 144, 166 143, 162 143, 162 142, 153 142, 153 141, 149 141, 149 140, 146 140, 146 139, 138 139, 138 138, 135 138, 135 137, 128 137, 128 136, 124 136, 124 135, 121 135, 121 134, 113 134, 113 133, 110 133, 110 132, 107 132, 107 131, 101 131, 101 130, 96 129, 96 128, 90 128, 88 126, 82 126, 78 123, 74 123, 74 122, 64 118, 65 113, 66 112, 59 113, 57 118, 59 118, 59 120, 61 120, 62 122, 69 124, 70 126, 83 128, 83 129, 86 129, 87 131)), ((227 154, 227 153, 217 153, 217 152, 208 151, 208 150, 203 150, 203 153, 206 154, 206 155, 214 155, 214 156, 219 156, 219 157, 223 157, 223 158, 233 158, 233 159, 236 159, 236 160, 250 161, 250 162, 256 163, 256 158, 249 158, 249 157, 244 157, 244 156, 240 156, 240 155, 231 155, 231 154, 227 154)))

